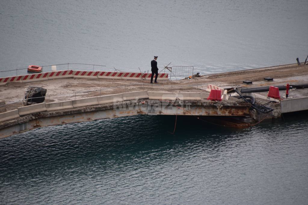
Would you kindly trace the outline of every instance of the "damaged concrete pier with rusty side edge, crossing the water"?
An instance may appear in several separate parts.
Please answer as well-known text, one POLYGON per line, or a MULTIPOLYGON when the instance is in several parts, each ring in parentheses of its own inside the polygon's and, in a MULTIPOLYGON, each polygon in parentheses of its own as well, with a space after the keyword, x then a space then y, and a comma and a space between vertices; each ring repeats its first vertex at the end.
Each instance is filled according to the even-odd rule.
POLYGON ((140 114, 218 116, 239 120, 245 125, 255 124, 283 113, 307 110, 308 89, 293 88, 289 98, 284 98, 281 91, 282 98, 279 100, 267 97, 267 92, 246 93, 259 104, 272 101, 268 104, 272 111, 260 113, 232 93, 233 88, 240 90, 286 83, 308 84, 308 66, 282 65, 206 75, 191 80, 160 81, 159 85, 150 85, 142 79, 97 79, 93 75, 89 78, 70 76, 30 83, 11 82, 0 86, 0 100, 6 102, 5 106, 0 105, 0 138, 38 127, 140 114), (274 81, 264 80, 269 76, 274 81), (247 79, 253 84, 244 85, 242 81, 247 79), (23 99, 24 88, 29 85, 43 85, 47 89, 44 103, 22 106, 20 100, 23 99), (222 101, 207 100, 209 91, 214 89, 209 85, 222 90, 222 101))

